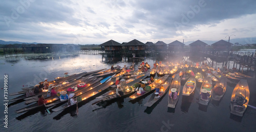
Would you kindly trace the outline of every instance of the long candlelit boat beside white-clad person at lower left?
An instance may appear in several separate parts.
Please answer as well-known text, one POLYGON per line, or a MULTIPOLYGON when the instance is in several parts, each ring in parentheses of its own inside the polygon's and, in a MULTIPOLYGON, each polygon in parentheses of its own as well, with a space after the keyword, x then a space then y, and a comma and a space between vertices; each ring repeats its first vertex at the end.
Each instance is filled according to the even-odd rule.
MULTIPOLYGON (((58 112, 58 111, 61 111, 61 110, 64 110, 64 109, 68 109, 68 108, 71 108, 73 106, 77 106, 79 103, 87 101, 87 100, 89 100, 93 97, 97 97, 101 94, 101 92, 106 91, 111 85, 113 85, 114 82, 115 82, 115 78, 113 78, 109 82, 106 82, 106 83, 102 84, 100 87, 94 88, 93 90, 90 90, 87 93, 79 95, 79 97, 81 98, 81 101, 77 102, 77 104, 68 105, 67 103, 64 103, 64 104, 60 105, 59 107, 52 109, 52 111, 53 112, 58 112)), ((46 107, 48 107, 48 106, 46 106, 46 107)))

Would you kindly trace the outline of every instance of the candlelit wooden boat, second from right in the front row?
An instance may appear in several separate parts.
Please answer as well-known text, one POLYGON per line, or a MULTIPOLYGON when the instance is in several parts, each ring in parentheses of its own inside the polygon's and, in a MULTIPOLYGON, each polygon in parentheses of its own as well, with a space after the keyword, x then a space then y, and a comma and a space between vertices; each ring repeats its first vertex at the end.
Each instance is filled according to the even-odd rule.
POLYGON ((226 92, 227 88, 227 79, 225 77, 220 78, 220 81, 215 84, 212 99, 220 100, 226 92))

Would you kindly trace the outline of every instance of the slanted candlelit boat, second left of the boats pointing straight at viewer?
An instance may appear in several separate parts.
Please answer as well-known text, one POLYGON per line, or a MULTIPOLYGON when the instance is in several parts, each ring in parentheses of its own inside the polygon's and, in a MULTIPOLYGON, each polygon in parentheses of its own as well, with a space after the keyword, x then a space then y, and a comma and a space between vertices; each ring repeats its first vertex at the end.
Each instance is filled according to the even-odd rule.
MULTIPOLYGON (((135 99, 139 98, 140 96, 143 96, 143 95, 146 95, 147 93, 151 93, 151 92, 155 91, 155 90, 154 90, 155 88, 160 88, 160 87, 161 87, 161 84, 165 83, 165 80, 167 79, 168 76, 169 76, 169 75, 164 75, 164 76, 162 76, 161 78, 159 78, 158 80, 154 81, 152 84, 148 85, 148 86, 151 87, 150 90, 146 90, 145 87, 144 87, 144 88, 143 88, 143 90, 145 91, 144 94, 138 95, 137 92, 134 93, 133 95, 131 95, 131 96, 129 97, 130 100, 135 100, 135 99)), ((167 82, 166 82, 166 84, 167 84, 167 82)), ((135 88, 135 89, 136 89, 136 88, 135 88)))

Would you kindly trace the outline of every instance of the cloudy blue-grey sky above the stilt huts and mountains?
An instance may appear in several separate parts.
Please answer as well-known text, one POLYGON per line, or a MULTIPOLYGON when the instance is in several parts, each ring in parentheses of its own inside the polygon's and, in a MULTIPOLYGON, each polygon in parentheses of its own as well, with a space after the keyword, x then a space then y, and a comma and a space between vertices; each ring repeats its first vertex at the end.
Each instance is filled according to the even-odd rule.
POLYGON ((0 2, 0 39, 100 44, 256 37, 255 0, 0 2))

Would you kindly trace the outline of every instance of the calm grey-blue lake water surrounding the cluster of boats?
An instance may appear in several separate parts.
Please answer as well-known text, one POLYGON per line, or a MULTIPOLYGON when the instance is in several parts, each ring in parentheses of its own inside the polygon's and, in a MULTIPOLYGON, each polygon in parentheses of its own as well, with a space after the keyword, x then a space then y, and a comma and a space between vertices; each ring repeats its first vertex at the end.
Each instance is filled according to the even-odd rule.
MULTIPOLYGON (((9 93, 20 91, 23 86, 34 85, 45 77, 53 80, 63 73, 80 73, 102 68, 112 64, 130 66, 133 59, 104 57, 102 55, 79 55, 75 58, 49 60, 25 60, 7 62, 0 59, 0 88, 4 88, 4 74, 8 74, 9 93)), ((141 61, 135 59, 136 66, 141 61)), ((155 60, 146 60, 151 66, 155 60)), ((218 65, 219 66, 219 65, 218 65)), ((250 87, 249 104, 256 106, 255 79, 248 80, 250 87)), ((183 86, 182 86, 183 88, 183 86)), ((180 96, 175 109, 167 108, 167 95, 147 108, 144 104, 151 95, 131 102, 129 98, 112 102, 102 108, 91 105, 91 100, 76 109, 48 114, 42 111, 16 114, 15 110, 26 107, 24 102, 8 108, 8 128, 1 123, 0 131, 255 131, 256 110, 247 107, 243 117, 230 114, 230 98, 234 85, 228 85, 225 95, 219 102, 211 101, 207 107, 199 105, 199 89, 189 97, 180 96)), ((4 118, 4 89, 1 90, 1 121, 4 118)), ((182 89, 181 89, 182 90, 182 89)), ((12 99, 17 96, 9 96, 12 99)))

